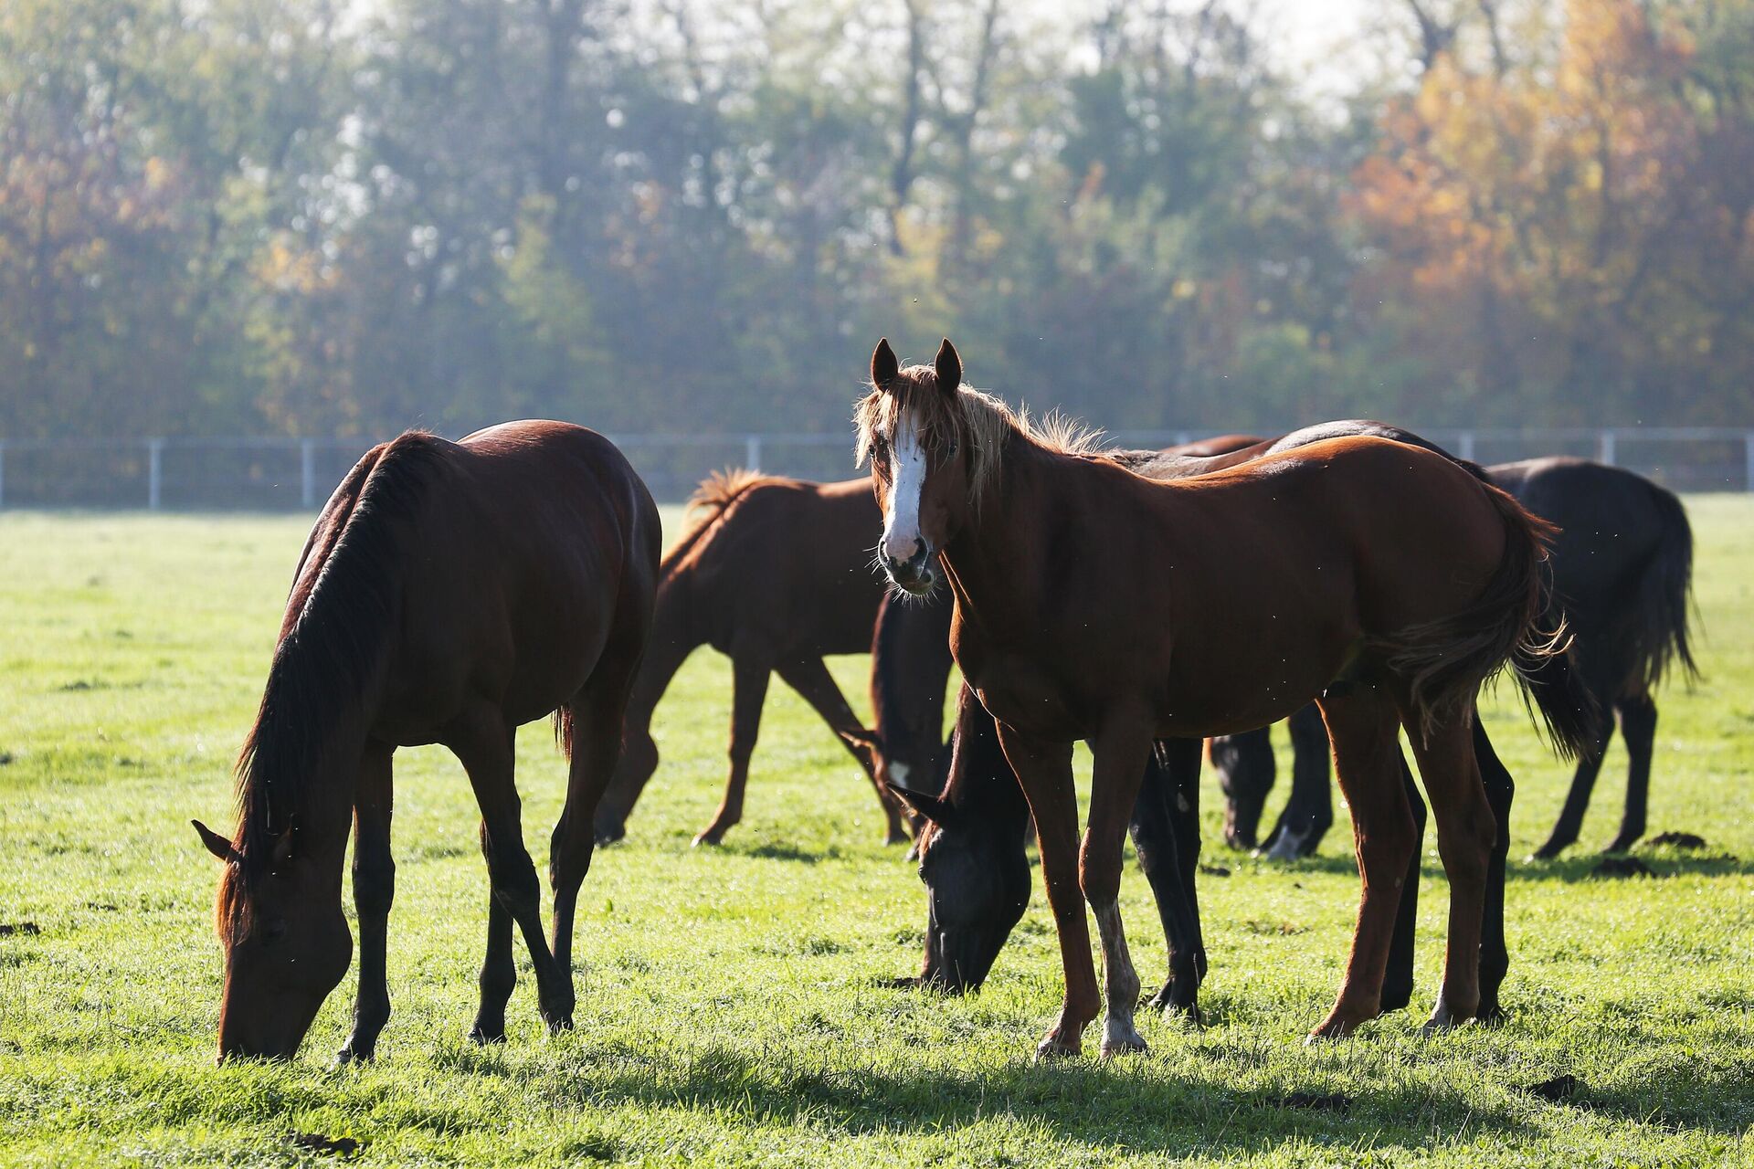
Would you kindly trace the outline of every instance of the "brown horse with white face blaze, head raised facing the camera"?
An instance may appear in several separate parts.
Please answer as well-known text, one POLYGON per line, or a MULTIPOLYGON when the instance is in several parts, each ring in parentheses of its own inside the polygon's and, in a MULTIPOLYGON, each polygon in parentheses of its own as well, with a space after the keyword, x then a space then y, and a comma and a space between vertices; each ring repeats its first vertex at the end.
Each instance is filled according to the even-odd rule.
MULTIPOLYGON (((1073 1053, 1107 980, 1105 1053, 1142 1050, 1138 976, 1119 913, 1121 840, 1154 738, 1265 726, 1321 698, 1358 832, 1365 890, 1345 981, 1314 1036, 1379 1013, 1412 840, 1396 734, 1407 727, 1451 875, 1449 953, 1431 1025, 1479 1010, 1493 811, 1473 757, 1473 694, 1505 664, 1559 661, 1537 640, 1547 528, 1442 456, 1338 438, 1187 480, 1151 482, 1044 442, 961 387, 949 340, 902 370, 888 342, 858 408, 884 507, 889 578, 956 596, 951 647, 998 720, 1030 801, 1066 974, 1040 1053, 1073 1053), (1201 556, 1226 547, 1214 563, 1201 556), (1240 563, 1238 563, 1240 561, 1240 563), (1077 843, 1072 741, 1094 755, 1077 843)), ((1537 687, 1537 699, 1551 699, 1537 687)), ((1582 710, 1544 701, 1577 750, 1582 710)))

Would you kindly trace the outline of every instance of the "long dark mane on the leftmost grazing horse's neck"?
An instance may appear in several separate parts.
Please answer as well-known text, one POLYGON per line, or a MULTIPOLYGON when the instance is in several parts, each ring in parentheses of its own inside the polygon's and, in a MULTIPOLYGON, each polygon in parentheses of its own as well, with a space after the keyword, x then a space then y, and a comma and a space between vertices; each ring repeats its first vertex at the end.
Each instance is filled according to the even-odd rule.
POLYGON ((281 836, 319 801, 353 797, 351 787, 323 790, 312 780, 335 727, 360 710, 377 682, 402 594, 400 529, 417 515, 447 449, 442 438, 421 431, 391 442, 351 507, 347 499, 332 501, 347 508, 339 536, 307 554, 289 599, 296 612, 282 626, 256 722, 237 761, 233 847, 242 862, 226 868, 219 887, 223 932, 246 922, 244 892, 268 871, 281 836))

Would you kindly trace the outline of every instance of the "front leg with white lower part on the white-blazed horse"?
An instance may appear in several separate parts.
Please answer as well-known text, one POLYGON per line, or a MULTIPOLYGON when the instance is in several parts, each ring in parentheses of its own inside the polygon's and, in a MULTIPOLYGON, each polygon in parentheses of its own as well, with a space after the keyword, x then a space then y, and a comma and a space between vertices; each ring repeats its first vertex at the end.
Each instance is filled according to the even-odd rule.
POLYGON ((1091 818, 1079 855, 1079 882, 1096 915, 1102 936, 1103 997, 1102 1055, 1144 1052, 1145 1039, 1133 1025, 1138 1004, 1138 973, 1121 924, 1121 848, 1126 822, 1138 803, 1138 787, 1151 759, 1151 724, 1144 719, 1110 717, 1091 743, 1091 818))

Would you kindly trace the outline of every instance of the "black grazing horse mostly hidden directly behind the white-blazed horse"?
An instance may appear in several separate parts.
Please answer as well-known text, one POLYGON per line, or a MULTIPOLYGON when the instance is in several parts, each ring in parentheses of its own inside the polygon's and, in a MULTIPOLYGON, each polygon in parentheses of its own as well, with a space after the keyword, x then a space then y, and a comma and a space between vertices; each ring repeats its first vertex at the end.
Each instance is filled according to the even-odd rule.
MULTIPOLYGON (((1442 454, 1438 447, 1412 431, 1368 419, 1323 422, 1293 431, 1279 440, 1230 436, 1217 442, 1228 447, 1223 454, 1231 454, 1244 447, 1258 447, 1249 456, 1258 457, 1270 449, 1291 450, 1308 442, 1342 435, 1375 435, 1442 454)), ((1205 470, 1205 461, 1161 457, 1163 454, 1180 456, 1184 452, 1186 449, 1114 454, 1126 466, 1151 466, 1168 478, 1205 470)), ((1458 463, 1475 477, 1484 475, 1472 463, 1461 459, 1458 463)), ((1226 464, 1237 464, 1237 461, 1231 459, 1226 464)), ((877 710, 875 736, 884 755, 930 757, 928 752, 937 750, 937 727, 931 726, 930 719, 923 717, 923 708, 931 703, 933 696, 942 694, 942 680, 949 673, 951 654, 947 640, 952 601, 944 591, 910 599, 910 603, 893 601, 895 598, 886 601, 879 612, 877 648, 872 655, 872 692, 873 708, 877 710)), ((931 710, 937 712, 937 706, 933 705, 931 710)), ((991 715, 979 703, 965 703, 958 715, 956 734, 977 743, 996 743, 996 731, 991 724, 991 715)), ((1316 743, 1323 752, 1321 759, 1326 762, 1328 731, 1314 705, 1293 713, 1287 719, 1287 726, 1291 727, 1293 741, 1300 747, 1300 768, 1307 764, 1307 754, 1303 754, 1307 743, 1303 738, 1308 736, 1316 736, 1316 743), (1308 722, 1314 722, 1314 727, 1308 722)), ((1230 761, 1231 766, 1237 766, 1237 761, 1252 762, 1244 750, 1252 748, 1256 743, 1265 748, 1266 764, 1272 768, 1272 745, 1266 741, 1265 731, 1216 736, 1207 740, 1207 748, 1214 759, 1230 761)), ((1480 939, 1480 1011, 1477 1018, 1498 1020, 1503 1017, 1498 990, 1508 971, 1503 934, 1503 887, 1505 861, 1510 848, 1508 820, 1515 785, 1510 773, 1498 761, 1486 729, 1479 722, 1475 722, 1475 754, 1486 782, 1493 818, 1498 825, 1498 836, 1493 841, 1491 868, 1487 869, 1486 920, 1480 939)), ((1247 771, 1244 773, 1247 775, 1247 771)), ((1226 778, 1223 769, 1219 775, 1226 778)), ((1323 771, 1323 776, 1326 778, 1326 771, 1323 771)), ((1200 855, 1198 778, 1200 752, 1196 743, 1184 740, 1159 741, 1152 762, 1145 769, 1130 825, 1135 848, 1140 855, 1140 868, 1151 882, 1158 901, 1158 913, 1163 918, 1165 936, 1170 941, 1168 981, 1152 995, 1151 1004, 1161 1006, 1170 1013, 1186 1013, 1191 1018, 1200 1017, 1198 987, 1207 969, 1198 918, 1198 896, 1194 890, 1200 855)), ((1414 838, 1419 840, 1424 836, 1426 806, 1405 761, 1401 761, 1401 780, 1414 813, 1414 838)), ((928 794, 926 797, 919 797, 916 790, 907 790, 905 785, 895 790, 924 818, 924 827, 917 840, 923 859, 919 876, 926 885, 928 901, 926 953, 921 973, 916 978, 900 981, 905 985, 933 987, 951 994, 979 988, 1021 913, 1017 897, 1021 896, 1023 903, 1028 901, 1024 843, 1030 824, 1026 813, 1021 824, 1012 815, 1012 804, 1023 803, 1016 775, 1012 775, 996 747, 988 752, 970 750, 965 755, 952 757, 952 748, 947 745, 938 754, 937 785, 930 789, 931 792, 938 792, 937 796, 928 794), (940 817, 952 820, 954 829, 947 831, 940 817), (930 864, 926 862, 928 859, 930 864), (1019 866, 1024 866, 1021 868, 1021 887, 993 882, 988 876, 989 871, 1019 871, 1019 866)), ((1230 808, 1235 808, 1238 804, 1237 790, 1231 787, 1224 790, 1230 808)), ((1323 787, 1323 796, 1326 796, 1326 787, 1323 787)), ((1261 797, 1265 799, 1265 790, 1261 797)), ((1400 1010, 1412 1001, 1417 894, 1419 857, 1415 854, 1408 864, 1405 892, 1394 920, 1382 990, 1384 1011, 1400 1010)))

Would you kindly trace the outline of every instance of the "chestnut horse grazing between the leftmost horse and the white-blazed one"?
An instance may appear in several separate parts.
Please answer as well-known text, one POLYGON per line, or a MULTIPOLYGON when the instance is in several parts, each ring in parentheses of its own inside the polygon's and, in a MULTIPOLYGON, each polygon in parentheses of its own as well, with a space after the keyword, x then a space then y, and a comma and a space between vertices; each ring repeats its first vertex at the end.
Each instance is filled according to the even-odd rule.
POLYGON ((872 782, 884 841, 907 841, 868 734, 823 662, 824 654, 870 647, 884 594, 870 571, 882 515, 868 482, 726 471, 702 482, 689 503, 700 515, 660 568, 651 648, 633 680, 626 748, 596 810, 598 843, 626 836, 628 815, 658 769, 652 712, 703 643, 731 659, 731 769, 724 799, 695 845, 717 845, 744 815, 749 757, 774 673, 810 703, 872 782))

